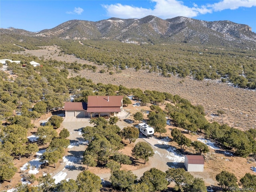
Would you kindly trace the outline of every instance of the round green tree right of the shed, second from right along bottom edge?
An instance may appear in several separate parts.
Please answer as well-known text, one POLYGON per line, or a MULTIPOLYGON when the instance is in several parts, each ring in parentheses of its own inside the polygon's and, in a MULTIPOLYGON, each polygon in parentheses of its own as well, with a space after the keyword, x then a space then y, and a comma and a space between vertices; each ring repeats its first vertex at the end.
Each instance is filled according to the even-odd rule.
POLYGON ((225 191, 230 187, 238 187, 237 178, 233 173, 222 171, 216 175, 218 185, 225 191))

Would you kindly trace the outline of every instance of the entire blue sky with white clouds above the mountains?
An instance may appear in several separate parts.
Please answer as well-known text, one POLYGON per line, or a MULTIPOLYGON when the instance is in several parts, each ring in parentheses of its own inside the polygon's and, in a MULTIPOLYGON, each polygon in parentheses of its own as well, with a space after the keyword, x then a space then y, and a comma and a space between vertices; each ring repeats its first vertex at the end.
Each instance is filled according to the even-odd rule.
POLYGON ((154 15, 230 20, 256 32, 256 0, 0 0, 0 27, 36 32, 68 20, 99 21, 154 15))

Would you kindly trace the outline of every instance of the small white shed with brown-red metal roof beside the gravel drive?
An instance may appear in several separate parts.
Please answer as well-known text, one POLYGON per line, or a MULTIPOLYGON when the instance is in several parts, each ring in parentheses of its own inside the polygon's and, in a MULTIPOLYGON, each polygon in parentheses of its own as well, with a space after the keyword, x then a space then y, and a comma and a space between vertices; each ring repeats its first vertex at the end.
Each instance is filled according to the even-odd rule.
POLYGON ((185 155, 184 166, 188 172, 203 172, 204 157, 202 155, 185 155))

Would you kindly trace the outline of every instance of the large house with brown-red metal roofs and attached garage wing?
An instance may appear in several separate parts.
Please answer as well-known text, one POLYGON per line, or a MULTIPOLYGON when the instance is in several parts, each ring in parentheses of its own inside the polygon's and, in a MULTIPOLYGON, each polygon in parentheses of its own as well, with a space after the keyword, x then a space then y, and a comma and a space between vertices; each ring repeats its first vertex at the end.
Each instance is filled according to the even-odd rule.
POLYGON ((114 116, 123 110, 123 96, 88 96, 88 102, 66 102, 66 117, 114 116))

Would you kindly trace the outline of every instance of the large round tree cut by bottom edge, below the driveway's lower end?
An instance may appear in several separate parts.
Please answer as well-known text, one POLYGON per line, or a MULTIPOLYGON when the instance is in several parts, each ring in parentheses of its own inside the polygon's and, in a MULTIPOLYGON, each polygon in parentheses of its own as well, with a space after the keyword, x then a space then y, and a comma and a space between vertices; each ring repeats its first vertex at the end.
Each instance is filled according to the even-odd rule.
POLYGON ((78 174, 76 184, 77 192, 99 192, 102 188, 100 177, 87 170, 78 174))

